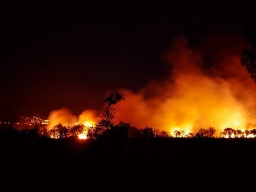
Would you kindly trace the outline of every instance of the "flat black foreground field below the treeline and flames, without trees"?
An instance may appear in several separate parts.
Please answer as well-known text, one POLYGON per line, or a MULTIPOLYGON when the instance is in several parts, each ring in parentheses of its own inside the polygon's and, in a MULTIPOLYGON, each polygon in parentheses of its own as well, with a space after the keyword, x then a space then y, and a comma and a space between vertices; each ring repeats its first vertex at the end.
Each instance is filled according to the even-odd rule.
MULTIPOLYGON (((89 140, 1 140, 8 190, 254 188, 256 139, 131 139, 121 149, 89 140)), ((174 190, 175 189, 175 190, 174 190)))

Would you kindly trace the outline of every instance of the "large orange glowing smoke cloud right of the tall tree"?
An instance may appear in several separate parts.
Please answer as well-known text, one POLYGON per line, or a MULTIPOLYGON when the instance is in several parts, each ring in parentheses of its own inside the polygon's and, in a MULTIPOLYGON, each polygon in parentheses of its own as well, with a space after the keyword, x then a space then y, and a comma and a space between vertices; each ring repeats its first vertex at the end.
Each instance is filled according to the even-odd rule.
POLYGON ((210 126, 217 134, 227 127, 253 129, 256 84, 241 66, 243 39, 211 36, 207 43, 210 50, 191 49, 180 37, 163 57, 171 66, 168 78, 138 92, 120 89, 125 97, 117 115, 121 121, 171 134, 210 126), (212 54, 211 63, 205 61, 207 54, 212 54))

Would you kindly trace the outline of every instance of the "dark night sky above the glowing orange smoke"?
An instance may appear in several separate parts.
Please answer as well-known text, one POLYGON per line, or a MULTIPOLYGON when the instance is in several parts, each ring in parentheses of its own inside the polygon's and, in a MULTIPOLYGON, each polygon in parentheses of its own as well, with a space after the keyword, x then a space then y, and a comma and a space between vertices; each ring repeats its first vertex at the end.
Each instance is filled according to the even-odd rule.
POLYGON ((162 54, 181 35, 241 33, 254 1, 10 1, 1 3, 0 121, 100 109, 106 91, 163 78, 162 54))

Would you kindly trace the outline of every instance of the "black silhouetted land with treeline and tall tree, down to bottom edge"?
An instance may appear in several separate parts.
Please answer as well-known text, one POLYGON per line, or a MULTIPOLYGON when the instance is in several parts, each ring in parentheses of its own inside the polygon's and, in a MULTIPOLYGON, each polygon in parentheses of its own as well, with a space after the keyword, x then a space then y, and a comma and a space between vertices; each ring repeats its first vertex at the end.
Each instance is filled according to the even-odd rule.
POLYGON ((215 138, 209 127, 188 137, 176 130, 171 137, 152 127, 114 124, 118 108, 113 105, 122 100, 119 93, 110 94, 94 127, 0 127, 1 189, 232 191, 253 186, 256 139, 247 136, 254 132, 241 137, 227 128, 215 138))

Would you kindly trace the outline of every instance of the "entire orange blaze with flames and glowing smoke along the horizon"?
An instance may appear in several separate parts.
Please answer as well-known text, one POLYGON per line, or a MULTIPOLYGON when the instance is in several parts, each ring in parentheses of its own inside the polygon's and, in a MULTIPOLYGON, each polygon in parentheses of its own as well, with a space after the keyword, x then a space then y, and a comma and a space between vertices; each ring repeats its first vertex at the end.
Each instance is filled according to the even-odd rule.
POLYGON ((204 42, 174 39, 162 57, 167 76, 137 91, 117 89, 100 112, 55 109, 40 134, 86 139, 125 127, 130 136, 150 128, 154 137, 255 137, 256 84, 244 68, 254 60, 241 54, 244 37, 210 35, 204 42))

